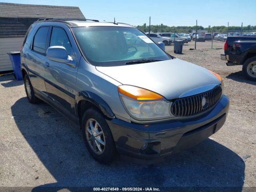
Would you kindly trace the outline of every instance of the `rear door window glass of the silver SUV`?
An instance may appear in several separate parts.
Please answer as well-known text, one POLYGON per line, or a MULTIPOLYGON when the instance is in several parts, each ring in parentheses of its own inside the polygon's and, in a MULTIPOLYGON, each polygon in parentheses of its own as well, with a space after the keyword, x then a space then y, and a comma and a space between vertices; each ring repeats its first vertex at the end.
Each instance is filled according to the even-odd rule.
POLYGON ((49 27, 40 27, 34 36, 33 50, 44 53, 49 27))

